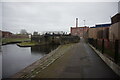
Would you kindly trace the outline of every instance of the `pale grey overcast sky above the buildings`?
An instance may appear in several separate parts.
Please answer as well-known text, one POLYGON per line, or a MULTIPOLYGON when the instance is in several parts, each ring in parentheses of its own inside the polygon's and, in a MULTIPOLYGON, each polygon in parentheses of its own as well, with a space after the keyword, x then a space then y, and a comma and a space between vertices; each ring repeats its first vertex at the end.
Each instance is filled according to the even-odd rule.
POLYGON ((13 33, 70 31, 79 18, 79 26, 110 23, 110 16, 118 12, 117 2, 4 2, 2 30, 13 33))

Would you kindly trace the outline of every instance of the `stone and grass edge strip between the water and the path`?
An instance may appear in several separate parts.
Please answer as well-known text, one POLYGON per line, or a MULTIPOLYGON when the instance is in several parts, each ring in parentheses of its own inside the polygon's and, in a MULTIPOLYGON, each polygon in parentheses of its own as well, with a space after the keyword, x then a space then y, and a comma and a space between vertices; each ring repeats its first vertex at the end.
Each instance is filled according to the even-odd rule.
MULTIPOLYGON (((74 43, 75 44, 75 43, 74 43)), ((53 50, 46 56, 42 57, 40 60, 26 67, 22 71, 13 75, 11 78, 33 78, 46 67, 51 65, 58 58, 63 56, 66 51, 70 50, 74 44, 60 45, 57 49, 53 50)))

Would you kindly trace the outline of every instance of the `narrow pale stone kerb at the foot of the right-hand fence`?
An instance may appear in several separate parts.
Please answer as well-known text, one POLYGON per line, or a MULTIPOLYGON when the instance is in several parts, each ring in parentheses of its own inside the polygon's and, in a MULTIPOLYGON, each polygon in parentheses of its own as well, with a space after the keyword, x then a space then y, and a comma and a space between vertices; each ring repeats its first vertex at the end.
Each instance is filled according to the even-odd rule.
POLYGON ((100 53, 98 50, 96 50, 91 44, 89 46, 100 56, 100 58, 116 73, 120 76, 120 66, 115 64, 113 61, 111 61, 109 58, 104 56, 102 53, 100 53))

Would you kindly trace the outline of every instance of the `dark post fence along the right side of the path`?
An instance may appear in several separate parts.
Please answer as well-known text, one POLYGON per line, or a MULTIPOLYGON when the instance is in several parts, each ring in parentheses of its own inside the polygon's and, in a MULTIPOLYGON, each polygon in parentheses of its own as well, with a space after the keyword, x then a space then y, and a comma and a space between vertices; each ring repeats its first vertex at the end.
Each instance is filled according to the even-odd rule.
POLYGON ((102 54, 120 65, 120 40, 110 41, 108 39, 89 38, 88 42, 102 54))

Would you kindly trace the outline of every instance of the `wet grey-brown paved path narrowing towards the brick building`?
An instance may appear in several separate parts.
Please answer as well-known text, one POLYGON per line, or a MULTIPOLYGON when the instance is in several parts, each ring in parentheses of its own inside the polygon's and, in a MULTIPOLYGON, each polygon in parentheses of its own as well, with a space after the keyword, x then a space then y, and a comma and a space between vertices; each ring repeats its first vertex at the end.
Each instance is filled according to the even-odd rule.
POLYGON ((118 78, 118 75, 82 39, 36 78, 118 78))

